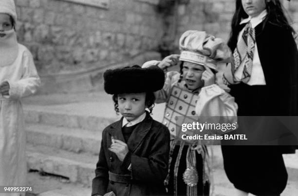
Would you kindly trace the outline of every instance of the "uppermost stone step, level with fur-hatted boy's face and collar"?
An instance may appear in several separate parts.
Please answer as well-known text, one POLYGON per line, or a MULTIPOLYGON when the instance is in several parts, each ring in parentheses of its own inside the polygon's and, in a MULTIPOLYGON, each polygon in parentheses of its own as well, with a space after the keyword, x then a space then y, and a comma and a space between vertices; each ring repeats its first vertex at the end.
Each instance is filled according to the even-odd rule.
POLYGON ((24 115, 27 123, 98 131, 120 118, 114 113, 105 113, 102 110, 107 111, 106 108, 93 102, 81 105, 78 103, 54 106, 26 105, 24 115))

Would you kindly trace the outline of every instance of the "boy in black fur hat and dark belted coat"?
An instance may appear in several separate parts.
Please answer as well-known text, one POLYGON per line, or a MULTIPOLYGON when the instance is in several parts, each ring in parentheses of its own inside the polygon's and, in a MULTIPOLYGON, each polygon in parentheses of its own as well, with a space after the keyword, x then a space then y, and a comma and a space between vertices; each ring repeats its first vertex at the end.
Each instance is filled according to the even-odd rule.
POLYGON ((163 87, 164 72, 155 66, 134 65, 107 70, 104 80, 115 111, 123 117, 102 133, 92 196, 111 192, 116 196, 165 195, 169 132, 150 117, 153 92, 163 87))

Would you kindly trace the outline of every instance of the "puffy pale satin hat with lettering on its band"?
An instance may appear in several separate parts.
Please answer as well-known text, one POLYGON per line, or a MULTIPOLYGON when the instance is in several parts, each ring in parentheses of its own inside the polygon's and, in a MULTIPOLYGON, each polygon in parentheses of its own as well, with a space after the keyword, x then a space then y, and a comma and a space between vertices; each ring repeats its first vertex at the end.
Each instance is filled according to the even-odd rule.
POLYGON ((232 52, 223 41, 204 31, 189 30, 179 40, 180 60, 217 70, 217 62, 231 62, 232 52))

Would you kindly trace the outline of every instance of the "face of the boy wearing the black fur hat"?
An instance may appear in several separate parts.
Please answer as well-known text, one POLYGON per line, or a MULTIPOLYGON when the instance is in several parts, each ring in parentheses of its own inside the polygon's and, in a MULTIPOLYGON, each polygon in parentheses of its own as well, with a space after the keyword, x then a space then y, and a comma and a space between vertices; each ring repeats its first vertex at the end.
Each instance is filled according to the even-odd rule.
POLYGON ((128 121, 134 120, 145 112, 146 93, 130 93, 118 95, 118 108, 128 121))

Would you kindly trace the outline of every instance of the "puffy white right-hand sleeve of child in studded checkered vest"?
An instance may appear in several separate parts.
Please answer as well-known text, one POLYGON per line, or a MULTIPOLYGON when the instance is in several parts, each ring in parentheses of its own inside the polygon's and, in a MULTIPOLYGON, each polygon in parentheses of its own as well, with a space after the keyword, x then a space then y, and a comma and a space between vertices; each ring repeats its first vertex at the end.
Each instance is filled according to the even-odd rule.
POLYGON ((217 84, 203 87, 196 105, 199 117, 228 117, 227 121, 237 122, 238 105, 235 98, 217 84))

